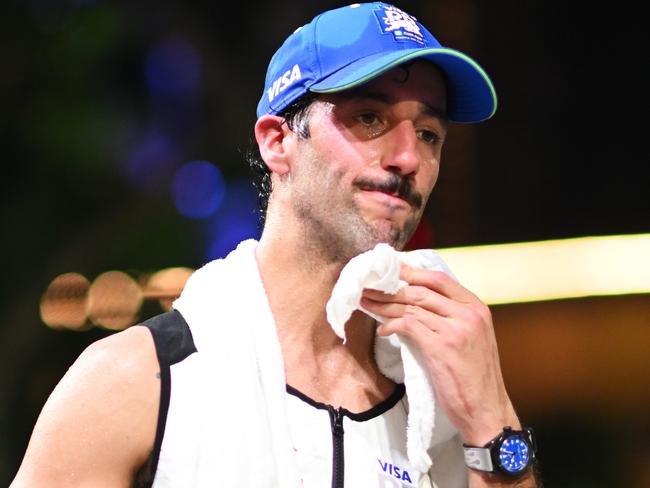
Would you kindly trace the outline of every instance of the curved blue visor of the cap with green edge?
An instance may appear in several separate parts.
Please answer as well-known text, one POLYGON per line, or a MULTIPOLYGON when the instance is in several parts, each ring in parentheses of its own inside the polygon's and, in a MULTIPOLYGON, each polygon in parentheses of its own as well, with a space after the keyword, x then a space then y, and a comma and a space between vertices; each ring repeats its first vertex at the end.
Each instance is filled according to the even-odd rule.
POLYGON ((309 89, 316 93, 349 90, 411 59, 427 59, 447 80, 447 112, 453 122, 480 122, 494 115, 497 96, 492 81, 476 61, 449 48, 411 49, 359 59, 309 89))

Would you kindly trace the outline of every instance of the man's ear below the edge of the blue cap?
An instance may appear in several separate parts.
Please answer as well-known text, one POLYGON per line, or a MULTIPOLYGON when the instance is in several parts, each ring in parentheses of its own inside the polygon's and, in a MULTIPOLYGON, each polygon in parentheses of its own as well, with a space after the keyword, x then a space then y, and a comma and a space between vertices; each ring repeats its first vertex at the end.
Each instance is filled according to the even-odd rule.
POLYGON ((287 149, 287 136, 293 134, 285 119, 277 115, 263 115, 255 123, 255 140, 262 159, 271 170, 284 176, 291 170, 287 149))

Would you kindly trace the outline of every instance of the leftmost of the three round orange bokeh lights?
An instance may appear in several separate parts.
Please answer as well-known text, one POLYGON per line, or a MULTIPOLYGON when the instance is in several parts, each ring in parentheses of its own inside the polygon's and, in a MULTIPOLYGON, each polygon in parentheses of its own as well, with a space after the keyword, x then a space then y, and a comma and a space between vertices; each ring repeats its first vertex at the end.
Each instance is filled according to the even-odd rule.
POLYGON ((90 282, 79 273, 64 273, 41 297, 41 320, 53 329, 80 329, 86 324, 86 297, 90 282))

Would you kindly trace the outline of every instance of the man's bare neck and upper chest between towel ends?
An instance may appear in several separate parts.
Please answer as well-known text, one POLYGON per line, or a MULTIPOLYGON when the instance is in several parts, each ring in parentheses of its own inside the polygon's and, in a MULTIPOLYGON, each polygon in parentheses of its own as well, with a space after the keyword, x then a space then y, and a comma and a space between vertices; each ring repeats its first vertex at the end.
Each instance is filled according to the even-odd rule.
POLYGON ((375 323, 356 312, 343 344, 327 322, 325 305, 345 263, 326 262, 290 236, 265 232, 256 253, 287 383, 314 400, 366 410, 394 387, 374 359, 375 323))

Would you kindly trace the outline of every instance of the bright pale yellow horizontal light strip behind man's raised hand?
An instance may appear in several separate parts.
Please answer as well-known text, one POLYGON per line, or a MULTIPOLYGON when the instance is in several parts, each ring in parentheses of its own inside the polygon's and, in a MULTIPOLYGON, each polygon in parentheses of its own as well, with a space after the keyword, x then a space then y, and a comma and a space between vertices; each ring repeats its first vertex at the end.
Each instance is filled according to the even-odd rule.
POLYGON ((650 293, 650 234, 439 249, 488 305, 650 293))

